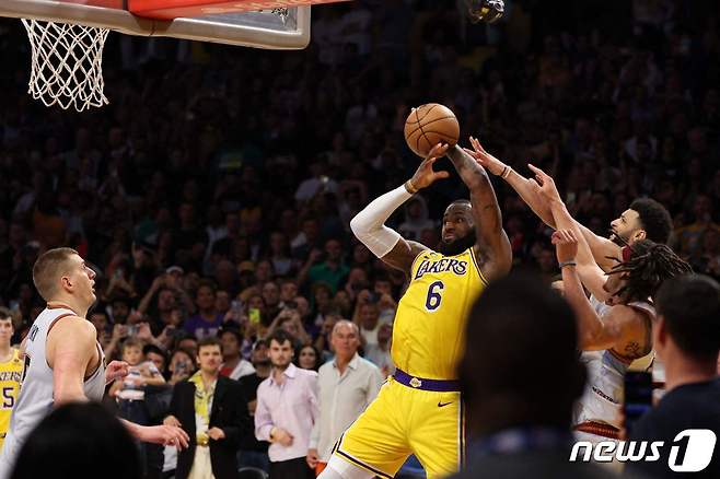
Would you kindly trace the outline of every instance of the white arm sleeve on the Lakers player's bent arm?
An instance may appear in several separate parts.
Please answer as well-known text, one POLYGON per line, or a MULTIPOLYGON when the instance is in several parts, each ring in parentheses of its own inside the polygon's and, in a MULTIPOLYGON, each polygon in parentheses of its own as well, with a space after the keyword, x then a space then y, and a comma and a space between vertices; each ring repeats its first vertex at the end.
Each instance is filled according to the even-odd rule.
POLYGON ((385 226, 385 221, 411 196, 403 185, 374 199, 350 221, 352 233, 376 257, 388 254, 400 241, 400 235, 385 226))

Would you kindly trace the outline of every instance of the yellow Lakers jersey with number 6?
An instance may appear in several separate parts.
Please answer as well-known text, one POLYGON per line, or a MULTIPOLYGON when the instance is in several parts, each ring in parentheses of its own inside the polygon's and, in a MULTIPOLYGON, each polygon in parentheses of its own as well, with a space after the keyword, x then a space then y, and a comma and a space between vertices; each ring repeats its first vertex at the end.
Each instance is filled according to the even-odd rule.
POLYGON ((393 326, 393 362, 411 376, 455 379, 467 316, 487 285, 475 252, 444 256, 426 249, 410 272, 393 326))

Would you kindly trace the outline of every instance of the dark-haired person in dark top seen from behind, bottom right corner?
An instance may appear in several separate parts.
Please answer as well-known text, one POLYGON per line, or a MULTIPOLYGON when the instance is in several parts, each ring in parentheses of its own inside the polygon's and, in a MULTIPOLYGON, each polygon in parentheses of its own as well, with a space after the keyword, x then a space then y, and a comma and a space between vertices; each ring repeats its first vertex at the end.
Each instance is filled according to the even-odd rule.
MULTIPOLYGON (((706 276, 688 274, 665 281, 657 294, 658 319, 652 328, 658 358, 665 364, 665 394, 635 423, 630 441, 677 442, 688 429, 720 431, 720 285, 706 276)), ((688 446, 689 447, 689 446, 688 446)), ((720 452, 693 477, 720 477, 720 452)), ((632 471, 674 478, 667 465, 670 447, 657 462, 629 463, 632 471)), ((682 462, 682 460, 680 460, 682 462)), ((677 462, 675 464, 678 464, 677 462)))

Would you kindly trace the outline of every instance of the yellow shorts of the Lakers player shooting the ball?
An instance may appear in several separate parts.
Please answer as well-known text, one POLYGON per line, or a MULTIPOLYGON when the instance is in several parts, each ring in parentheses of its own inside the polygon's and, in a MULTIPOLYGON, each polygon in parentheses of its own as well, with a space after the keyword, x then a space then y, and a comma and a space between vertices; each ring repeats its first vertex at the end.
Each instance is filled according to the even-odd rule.
POLYGON ((410 454, 428 478, 456 472, 465 455, 465 418, 460 393, 404 386, 392 377, 333 449, 381 478, 393 478, 410 454))

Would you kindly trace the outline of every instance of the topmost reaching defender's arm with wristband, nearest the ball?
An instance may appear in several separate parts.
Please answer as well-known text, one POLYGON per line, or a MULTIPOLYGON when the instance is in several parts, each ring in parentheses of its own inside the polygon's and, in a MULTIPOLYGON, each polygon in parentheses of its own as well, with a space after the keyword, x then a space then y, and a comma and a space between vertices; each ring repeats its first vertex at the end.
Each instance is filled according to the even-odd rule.
MULTIPOLYGON (((533 182, 532 178, 525 178, 520 173, 515 172, 510 165, 485 151, 476 138, 471 137, 471 144, 473 145, 473 150, 465 149, 465 151, 488 172, 504 179, 545 224, 551 229, 562 227, 555 224, 550 206, 543 198, 537 183, 533 182)), ((606 237, 596 235, 579 222, 574 222, 577 223, 583 238, 590 246, 595 262, 603 269, 603 271, 609 271, 614 266, 614 262, 612 259, 607 258, 618 256, 619 246, 606 237)))

